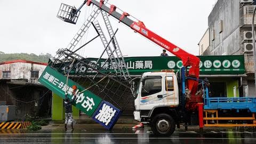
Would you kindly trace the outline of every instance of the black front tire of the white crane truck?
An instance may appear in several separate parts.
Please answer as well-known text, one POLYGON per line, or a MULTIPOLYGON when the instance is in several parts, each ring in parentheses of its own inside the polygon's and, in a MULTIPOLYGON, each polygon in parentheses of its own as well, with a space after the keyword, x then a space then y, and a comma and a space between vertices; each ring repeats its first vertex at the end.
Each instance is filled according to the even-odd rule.
POLYGON ((169 114, 158 114, 151 122, 151 129, 155 135, 170 136, 175 130, 175 122, 169 114))

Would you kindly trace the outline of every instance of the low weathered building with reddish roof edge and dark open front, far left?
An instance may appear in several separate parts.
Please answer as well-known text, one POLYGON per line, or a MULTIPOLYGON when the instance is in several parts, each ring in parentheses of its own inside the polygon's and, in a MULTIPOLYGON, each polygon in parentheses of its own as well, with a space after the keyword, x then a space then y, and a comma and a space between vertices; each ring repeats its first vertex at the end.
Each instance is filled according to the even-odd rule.
POLYGON ((46 66, 25 60, 0 63, 0 101, 15 105, 17 118, 51 116, 51 91, 38 82, 46 66))

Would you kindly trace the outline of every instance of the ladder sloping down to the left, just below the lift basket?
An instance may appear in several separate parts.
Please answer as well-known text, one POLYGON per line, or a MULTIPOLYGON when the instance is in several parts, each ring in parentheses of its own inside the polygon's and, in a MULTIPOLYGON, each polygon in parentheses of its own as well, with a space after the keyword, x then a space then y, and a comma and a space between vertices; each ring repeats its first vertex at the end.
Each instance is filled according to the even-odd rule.
MULTIPOLYGON (((107 3, 108 0, 105 1, 107 3)), ((74 38, 70 41, 70 43, 67 46, 67 49, 73 50, 78 42, 82 39, 84 36, 85 32, 89 29, 91 26, 92 22, 97 18, 97 16, 100 13, 100 8, 95 7, 95 9, 92 11, 91 15, 87 18, 87 20, 83 23, 82 27, 78 30, 74 38)))

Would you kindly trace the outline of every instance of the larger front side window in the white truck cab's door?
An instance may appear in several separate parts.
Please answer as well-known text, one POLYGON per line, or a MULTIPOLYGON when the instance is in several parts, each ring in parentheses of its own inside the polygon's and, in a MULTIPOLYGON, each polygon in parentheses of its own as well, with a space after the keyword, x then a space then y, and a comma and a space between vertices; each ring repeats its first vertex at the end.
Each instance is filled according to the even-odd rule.
POLYGON ((162 91, 162 77, 147 77, 142 81, 141 96, 150 96, 162 91))

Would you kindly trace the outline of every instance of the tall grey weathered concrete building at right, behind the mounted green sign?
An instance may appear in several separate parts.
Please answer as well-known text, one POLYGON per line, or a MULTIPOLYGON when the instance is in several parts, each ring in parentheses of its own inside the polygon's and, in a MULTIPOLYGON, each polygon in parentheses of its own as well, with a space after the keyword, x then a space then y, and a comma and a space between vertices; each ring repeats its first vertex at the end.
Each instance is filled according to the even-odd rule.
POLYGON ((205 33, 198 43, 203 56, 244 55, 243 96, 256 95, 251 28, 254 7, 253 0, 219 0, 208 17, 209 33, 205 33), (202 49, 202 45, 208 47, 202 49))

